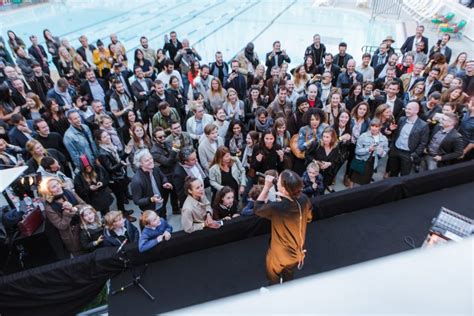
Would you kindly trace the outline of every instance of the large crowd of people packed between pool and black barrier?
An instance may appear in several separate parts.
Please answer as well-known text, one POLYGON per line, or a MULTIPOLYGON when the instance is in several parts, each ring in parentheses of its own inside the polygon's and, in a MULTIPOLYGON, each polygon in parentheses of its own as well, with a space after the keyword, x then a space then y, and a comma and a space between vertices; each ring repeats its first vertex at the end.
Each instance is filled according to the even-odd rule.
MULTIPOLYGON (((168 240, 168 205, 187 233, 218 229, 253 214, 265 175, 285 169, 314 198, 335 191, 341 168, 352 187, 376 170, 396 177, 472 159, 474 60, 453 55, 449 34, 430 47, 423 32, 400 52, 388 36, 360 63, 348 53, 358 48, 341 42, 333 54, 316 34, 290 68, 279 41, 265 60, 249 43, 229 63, 221 52, 208 63, 176 32, 157 50, 142 36, 128 60, 115 34, 74 48, 45 29, 45 45, 31 35, 27 48, 8 31, 0 169, 41 173, 46 219, 76 256, 168 240)), ((278 199, 275 188, 265 196, 278 199)))

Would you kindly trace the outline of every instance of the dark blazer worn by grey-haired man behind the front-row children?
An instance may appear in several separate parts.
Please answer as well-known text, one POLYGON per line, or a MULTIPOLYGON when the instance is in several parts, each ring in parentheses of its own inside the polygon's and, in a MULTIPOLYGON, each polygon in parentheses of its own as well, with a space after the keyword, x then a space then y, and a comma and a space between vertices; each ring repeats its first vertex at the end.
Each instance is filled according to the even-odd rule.
MULTIPOLYGON (((161 172, 160 168, 153 168, 153 177, 156 181, 158 189, 163 196, 163 184, 168 182, 168 178, 161 172)), ((151 186, 150 176, 141 168, 138 168, 137 173, 132 178, 131 182, 133 202, 142 210, 155 210, 155 203, 150 201, 154 195, 151 186)))

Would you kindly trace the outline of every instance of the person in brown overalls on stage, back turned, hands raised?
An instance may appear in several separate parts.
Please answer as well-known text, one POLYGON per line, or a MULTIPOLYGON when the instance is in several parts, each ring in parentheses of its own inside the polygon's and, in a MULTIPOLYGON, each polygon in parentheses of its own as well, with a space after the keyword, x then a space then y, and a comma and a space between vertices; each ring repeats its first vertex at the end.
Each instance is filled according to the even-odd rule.
POLYGON ((294 268, 303 268, 306 226, 312 220, 312 205, 302 190, 300 176, 285 170, 278 179, 269 175, 265 177, 265 185, 255 202, 255 214, 272 222, 266 257, 266 275, 270 285, 292 280, 294 268), (268 203, 268 192, 275 185, 275 180, 279 200, 268 203))

